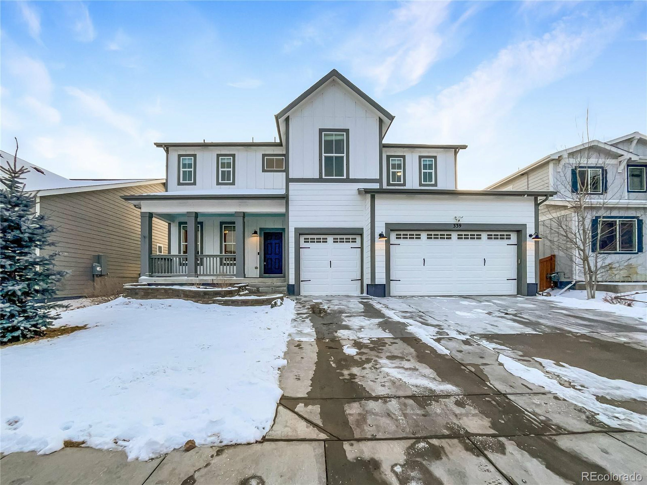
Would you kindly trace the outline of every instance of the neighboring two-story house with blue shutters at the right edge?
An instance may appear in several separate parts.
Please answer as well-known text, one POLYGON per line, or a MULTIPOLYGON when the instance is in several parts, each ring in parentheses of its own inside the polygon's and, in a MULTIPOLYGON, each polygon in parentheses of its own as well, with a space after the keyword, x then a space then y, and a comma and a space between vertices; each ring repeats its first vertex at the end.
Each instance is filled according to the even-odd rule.
POLYGON ((603 262, 602 279, 647 281, 646 170, 647 136, 634 132, 552 153, 487 189, 557 191, 540 208, 539 251, 556 255, 563 279, 583 279, 581 261, 559 240, 570 225, 603 262))

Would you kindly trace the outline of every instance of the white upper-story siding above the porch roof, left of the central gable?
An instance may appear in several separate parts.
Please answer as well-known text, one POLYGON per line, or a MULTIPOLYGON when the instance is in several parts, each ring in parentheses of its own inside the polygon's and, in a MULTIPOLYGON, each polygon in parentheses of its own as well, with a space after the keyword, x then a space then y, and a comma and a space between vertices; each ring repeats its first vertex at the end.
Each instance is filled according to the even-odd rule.
POLYGON ((263 172, 263 153, 285 153, 283 147, 170 147, 168 152, 168 188, 177 191, 205 191, 226 189, 285 189, 285 172, 263 172), (196 156, 195 185, 178 185, 178 155, 194 154, 196 156), (217 155, 233 153, 236 155, 236 183, 218 185, 217 155))

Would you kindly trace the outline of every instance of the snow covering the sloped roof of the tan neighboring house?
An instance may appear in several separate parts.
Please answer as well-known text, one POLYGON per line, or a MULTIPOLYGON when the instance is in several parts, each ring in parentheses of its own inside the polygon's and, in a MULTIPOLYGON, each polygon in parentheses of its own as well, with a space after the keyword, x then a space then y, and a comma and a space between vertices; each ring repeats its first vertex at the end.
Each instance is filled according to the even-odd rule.
MULTIPOLYGON (((0 150, 0 162, 5 166, 6 162, 13 164, 14 155, 7 153, 6 151, 0 150)), ((23 175, 25 178, 25 188, 28 191, 43 191, 43 190, 61 190, 61 189, 75 189, 80 187, 93 187, 98 186, 98 188, 103 188, 102 186, 114 185, 114 184, 129 184, 137 182, 147 182, 148 178, 129 178, 129 179, 111 179, 111 180, 91 180, 91 179, 79 179, 71 180, 65 178, 62 175, 58 175, 48 169, 39 167, 36 164, 27 162, 22 158, 16 157, 17 164, 19 166, 27 167, 29 171, 23 175)))

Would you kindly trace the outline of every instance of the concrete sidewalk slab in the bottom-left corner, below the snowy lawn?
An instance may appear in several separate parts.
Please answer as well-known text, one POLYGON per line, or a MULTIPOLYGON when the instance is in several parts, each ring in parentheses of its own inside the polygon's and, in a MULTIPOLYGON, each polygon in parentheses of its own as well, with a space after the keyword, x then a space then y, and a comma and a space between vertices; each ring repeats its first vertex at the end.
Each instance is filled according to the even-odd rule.
POLYGON ((162 458, 127 461, 123 451, 63 448, 50 455, 11 453, 2 460, 3 485, 141 485, 162 458))

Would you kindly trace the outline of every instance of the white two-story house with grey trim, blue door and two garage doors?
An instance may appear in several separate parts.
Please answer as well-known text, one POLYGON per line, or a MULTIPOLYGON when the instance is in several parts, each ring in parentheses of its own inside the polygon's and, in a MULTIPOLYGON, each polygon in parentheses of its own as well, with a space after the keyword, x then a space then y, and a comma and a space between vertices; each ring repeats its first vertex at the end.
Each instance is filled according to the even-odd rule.
POLYGON ((456 188, 465 145, 387 144, 393 115, 336 70, 275 116, 278 142, 159 143, 167 191, 141 210, 148 283, 267 278, 294 295, 536 291, 547 190, 456 188), (151 254, 151 220, 171 253, 151 254))

